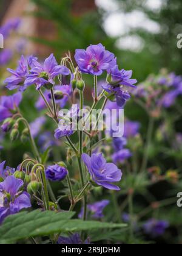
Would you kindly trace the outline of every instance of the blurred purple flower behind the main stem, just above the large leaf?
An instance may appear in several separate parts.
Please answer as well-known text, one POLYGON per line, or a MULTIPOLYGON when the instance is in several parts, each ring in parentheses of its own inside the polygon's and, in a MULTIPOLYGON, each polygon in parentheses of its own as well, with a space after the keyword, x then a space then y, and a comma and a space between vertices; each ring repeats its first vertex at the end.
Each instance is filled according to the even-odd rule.
MULTIPOLYGON (((92 214, 93 219, 101 219, 104 217, 103 210, 109 204, 109 200, 102 200, 99 202, 95 202, 94 204, 88 204, 87 208, 92 214)), ((83 218, 83 208, 81 209, 81 213, 78 216, 80 219, 83 218)))

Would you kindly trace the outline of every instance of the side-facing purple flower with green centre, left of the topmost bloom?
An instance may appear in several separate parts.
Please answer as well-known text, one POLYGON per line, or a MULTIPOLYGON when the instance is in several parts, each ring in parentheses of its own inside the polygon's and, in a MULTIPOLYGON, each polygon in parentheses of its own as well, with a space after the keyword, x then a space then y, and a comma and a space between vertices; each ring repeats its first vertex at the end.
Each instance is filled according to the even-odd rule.
POLYGON ((51 54, 41 65, 36 60, 33 61, 33 68, 30 74, 27 74, 25 85, 36 84, 36 89, 39 90, 43 85, 55 85, 55 77, 59 74, 67 76, 70 71, 66 66, 58 65, 53 54, 51 54))

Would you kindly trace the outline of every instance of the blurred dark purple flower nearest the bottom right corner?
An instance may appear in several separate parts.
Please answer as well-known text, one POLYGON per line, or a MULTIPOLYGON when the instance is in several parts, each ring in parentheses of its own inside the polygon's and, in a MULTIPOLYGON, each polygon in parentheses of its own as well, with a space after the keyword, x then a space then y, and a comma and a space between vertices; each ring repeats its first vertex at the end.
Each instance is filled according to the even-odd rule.
POLYGON ((149 221, 144 224, 144 232, 152 237, 161 236, 164 234, 166 229, 169 227, 169 222, 158 221, 156 219, 149 219, 149 221))

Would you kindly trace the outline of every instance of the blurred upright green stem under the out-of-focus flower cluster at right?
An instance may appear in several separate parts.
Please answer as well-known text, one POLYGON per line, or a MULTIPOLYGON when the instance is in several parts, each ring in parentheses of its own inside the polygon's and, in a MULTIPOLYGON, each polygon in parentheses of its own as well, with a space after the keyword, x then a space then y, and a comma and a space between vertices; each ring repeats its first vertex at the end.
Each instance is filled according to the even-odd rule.
POLYGON ((143 162, 141 165, 141 171, 146 171, 147 168, 147 163, 149 160, 149 147, 150 147, 150 143, 152 140, 152 132, 153 132, 153 126, 154 126, 154 118, 152 116, 150 116, 149 119, 149 127, 148 127, 148 131, 147 131, 147 140, 146 140, 146 146, 144 149, 144 157, 143 157, 143 162))

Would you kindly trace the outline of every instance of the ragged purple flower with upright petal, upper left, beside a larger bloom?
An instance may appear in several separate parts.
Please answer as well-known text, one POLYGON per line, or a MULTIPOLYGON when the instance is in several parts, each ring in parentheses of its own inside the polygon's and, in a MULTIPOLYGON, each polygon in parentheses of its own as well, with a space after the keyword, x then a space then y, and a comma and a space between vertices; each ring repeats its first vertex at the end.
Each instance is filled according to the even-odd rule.
POLYGON ((14 90, 16 88, 19 88, 19 90, 24 91, 27 86, 25 86, 25 76, 28 74, 28 63, 27 59, 25 59, 24 55, 21 56, 21 59, 19 60, 19 65, 16 70, 7 69, 12 76, 5 79, 4 83, 7 84, 8 90, 14 90))

